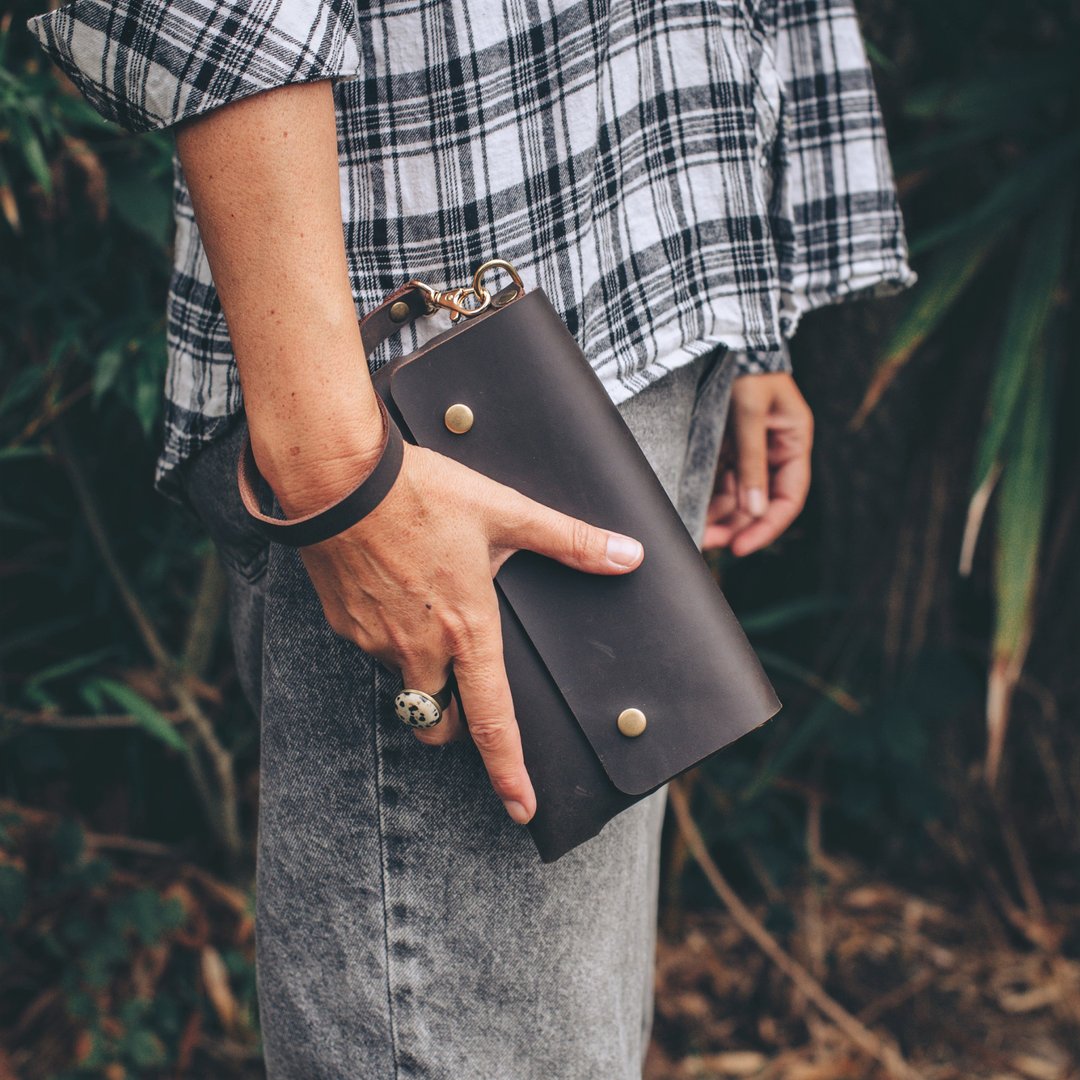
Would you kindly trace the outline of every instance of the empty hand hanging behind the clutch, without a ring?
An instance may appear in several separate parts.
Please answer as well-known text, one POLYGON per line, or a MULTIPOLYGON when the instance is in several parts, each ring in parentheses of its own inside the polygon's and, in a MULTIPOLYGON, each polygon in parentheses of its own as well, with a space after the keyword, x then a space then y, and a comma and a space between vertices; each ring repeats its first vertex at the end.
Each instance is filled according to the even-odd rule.
POLYGON ((735 379, 702 549, 748 555, 772 543, 806 503, 812 445, 813 414, 791 375, 735 379))

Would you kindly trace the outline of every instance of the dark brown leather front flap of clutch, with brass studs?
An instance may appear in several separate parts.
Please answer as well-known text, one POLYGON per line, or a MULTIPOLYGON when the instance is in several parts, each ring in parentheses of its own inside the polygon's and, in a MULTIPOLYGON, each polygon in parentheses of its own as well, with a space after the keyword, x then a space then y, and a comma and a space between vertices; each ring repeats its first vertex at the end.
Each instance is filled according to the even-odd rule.
POLYGON ((625 576, 521 551, 496 579, 611 782, 652 791, 772 716, 780 702, 742 629, 546 297, 434 343, 376 373, 415 442, 645 546, 625 576), (465 434, 444 422, 457 403, 473 411, 465 434), (630 707, 647 718, 636 738, 617 726, 630 707))

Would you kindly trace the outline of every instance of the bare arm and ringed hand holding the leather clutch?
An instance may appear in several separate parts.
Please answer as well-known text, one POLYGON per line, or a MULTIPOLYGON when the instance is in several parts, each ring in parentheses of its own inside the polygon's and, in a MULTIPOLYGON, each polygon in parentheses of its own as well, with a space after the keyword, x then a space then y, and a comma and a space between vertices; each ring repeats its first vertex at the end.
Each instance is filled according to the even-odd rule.
MULTIPOLYGON (((332 85, 281 86, 177 129, 177 150, 240 369, 252 446, 287 514, 345 495, 380 421, 348 281, 332 85)), ((528 548, 624 573, 640 544, 406 445, 386 499, 302 550, 330 625, 429 692, 453 665, 469 732, 507 811, 536 810, 502 660, 494 578, 528 548), (403 528, 402 522, 415 523, 403 528)), ((445 742, 456 708, 428 731, 445 742)))

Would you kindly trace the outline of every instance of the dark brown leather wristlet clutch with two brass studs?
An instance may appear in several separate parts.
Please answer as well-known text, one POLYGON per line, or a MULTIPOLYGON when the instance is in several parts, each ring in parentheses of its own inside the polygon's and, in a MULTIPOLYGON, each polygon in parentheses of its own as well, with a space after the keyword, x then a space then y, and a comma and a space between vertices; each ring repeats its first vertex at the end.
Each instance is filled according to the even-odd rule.
MULTIPOLYGON (((449 329, 373 375, 401 434, 645 548, 626 575, 583 573, 519 551, 495 579, 507 676, 537 794, 527 827, 540 858, 553 862, 759 727, 780 701, 544 294, 526 293, 498 259, 482 266, 471 286, 440 292, 413 281, 362 320, 365 351, 440 309, 451 312, 449 329), (513 284, 492 294, 484 281, 497 269, 513 284)), ((249 448, 240 467, 249 480, 249 448)), ((396 475, 391 467, 383 473, 396 475)), ((289 525, 257 519, 272 539, 289 525)))

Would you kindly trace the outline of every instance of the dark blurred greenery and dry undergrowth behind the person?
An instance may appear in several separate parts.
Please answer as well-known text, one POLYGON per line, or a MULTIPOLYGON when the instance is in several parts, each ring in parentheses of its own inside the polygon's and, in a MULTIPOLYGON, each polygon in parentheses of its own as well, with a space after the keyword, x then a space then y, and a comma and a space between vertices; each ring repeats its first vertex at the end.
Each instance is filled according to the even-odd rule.
MULTIPOLYGON (((920 283, 808 318, 717 566, 785 710, 673 789, 649 1075, 1080 1077, 1080 6, 864 0, 920 283)), ((151 492, 167 136, 0 16, 0 1080, 255 1077, 257 730, 151 492)))

